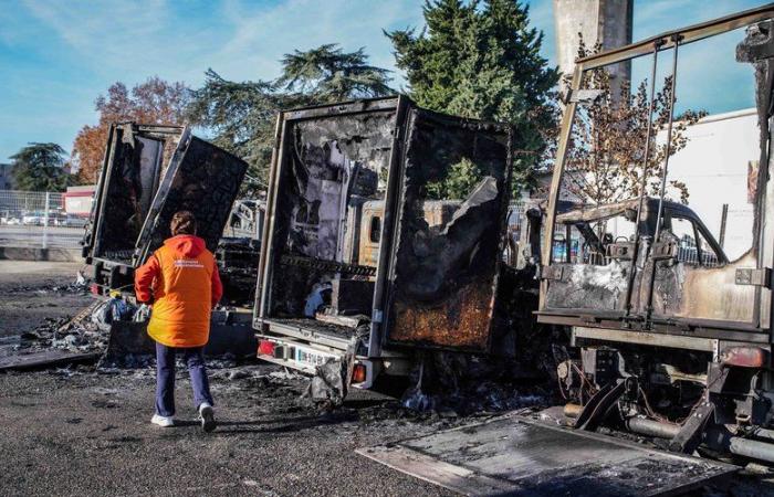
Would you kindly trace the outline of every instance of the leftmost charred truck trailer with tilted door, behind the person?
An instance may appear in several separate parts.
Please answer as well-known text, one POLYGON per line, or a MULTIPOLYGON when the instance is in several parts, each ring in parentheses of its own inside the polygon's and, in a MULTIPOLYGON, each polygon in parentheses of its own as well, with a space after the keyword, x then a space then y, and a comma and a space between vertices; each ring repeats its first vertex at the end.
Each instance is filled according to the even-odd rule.
MULTIPOLYGON (((243 160, 192 136, 188 128, 135 123, 111 126, 83 241, 83 256, 94 268, 93 292, 133 296, 134 269, 170 236, 169 222, 179 210, 196 215, 198 235, 218 255, 219 264, 227 262, 228 266, 233 251, 229 252, 229 245, 219 247, 219 242, 247 167, 243 160)), ((239 245, 238 252, 249 251, 249 245, 239 245)), ((228 289, 229 272, 223 273, 228 289)), ((223 302, 240 298, 226 295, 223 302)), ((251 315, 247 308, 215 311, 210 353, 228 350, 230 339, 238 342, 251 336, 251 315), (222 343, 218 338, 221 329, 232 332, 231 338, 221 337, 222 343)), ((135 329, 142 324, 125 325, 116 324, 111 330, 109 347, 121 349, 113 351, 142 352, 151 345, 135 329)))

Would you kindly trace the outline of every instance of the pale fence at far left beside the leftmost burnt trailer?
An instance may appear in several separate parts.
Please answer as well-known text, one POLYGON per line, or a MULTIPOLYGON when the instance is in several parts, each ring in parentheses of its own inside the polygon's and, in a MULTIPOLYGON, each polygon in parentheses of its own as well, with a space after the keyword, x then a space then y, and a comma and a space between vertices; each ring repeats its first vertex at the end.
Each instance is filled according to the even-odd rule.
POLYGON ((79 248, 86 222, 64 193, 0 190, 0 246, 79 248))

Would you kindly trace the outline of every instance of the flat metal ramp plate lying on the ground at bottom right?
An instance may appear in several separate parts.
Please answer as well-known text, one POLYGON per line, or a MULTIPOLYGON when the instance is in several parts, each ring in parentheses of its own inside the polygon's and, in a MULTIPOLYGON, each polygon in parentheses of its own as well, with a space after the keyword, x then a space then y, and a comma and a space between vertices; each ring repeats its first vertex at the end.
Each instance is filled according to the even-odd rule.
POLYGON ((357 453, 464 495, 676 495, 738 469, 517 415, 357 453))

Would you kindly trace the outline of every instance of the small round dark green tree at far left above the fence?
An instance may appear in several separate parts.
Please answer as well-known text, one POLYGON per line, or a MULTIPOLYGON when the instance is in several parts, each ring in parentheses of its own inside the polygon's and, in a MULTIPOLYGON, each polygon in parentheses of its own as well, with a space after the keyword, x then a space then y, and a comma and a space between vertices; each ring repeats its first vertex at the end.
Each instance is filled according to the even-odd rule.
POLYGON ((77 184, 65 169, 67 152, 56 144, 29 144, 11 156, 15 188, 27 191, 64 191, 77 184))

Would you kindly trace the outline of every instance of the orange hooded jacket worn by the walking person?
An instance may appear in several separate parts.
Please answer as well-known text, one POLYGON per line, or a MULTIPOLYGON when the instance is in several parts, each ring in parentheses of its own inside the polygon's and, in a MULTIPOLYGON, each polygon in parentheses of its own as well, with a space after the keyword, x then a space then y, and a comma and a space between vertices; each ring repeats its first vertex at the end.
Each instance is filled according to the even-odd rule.
POLYGON ((223 295, 215 257, 205 241, 177 235, 135 271, 135 295, 153 300, 150 338, 167 347, 201 347, 210 335, 210 313, 223 295))

